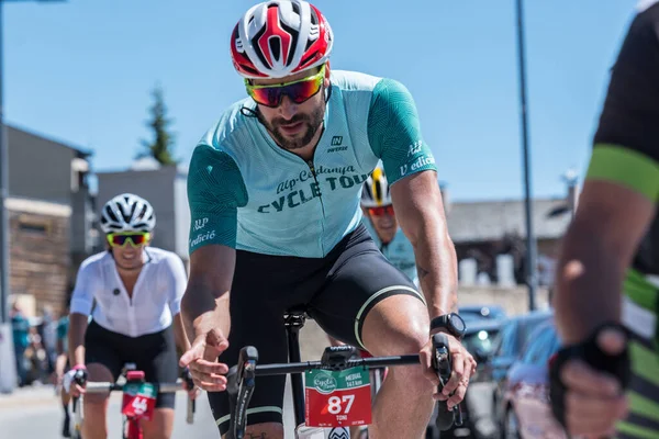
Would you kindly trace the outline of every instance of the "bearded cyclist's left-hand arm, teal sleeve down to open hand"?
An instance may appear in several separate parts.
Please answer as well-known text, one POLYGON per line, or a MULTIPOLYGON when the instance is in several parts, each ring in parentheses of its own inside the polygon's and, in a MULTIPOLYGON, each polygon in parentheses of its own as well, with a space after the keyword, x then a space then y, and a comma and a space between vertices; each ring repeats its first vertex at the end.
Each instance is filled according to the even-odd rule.
POLYGON ((226 365, 216 363, 228 346, 228 292, 235 268, 237 210, 247 203, 241 171, 232 157, 206 138, 192 154, 188 173, 190 279, 181 302, 191 348, 179 364, 189 365, 194 383, 222 391, 226 365))

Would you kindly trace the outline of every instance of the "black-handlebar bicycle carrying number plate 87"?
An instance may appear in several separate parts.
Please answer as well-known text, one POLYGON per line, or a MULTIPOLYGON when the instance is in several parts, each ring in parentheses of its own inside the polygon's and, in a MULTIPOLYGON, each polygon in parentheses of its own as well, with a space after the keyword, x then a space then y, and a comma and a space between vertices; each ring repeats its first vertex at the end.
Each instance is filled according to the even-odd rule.
MULTIPOLYGON (((353 346, 327 347, 321 360, 302 362, 299 333, 306 318, 303 309, 291 309, 284 314, 289 363, 258 364, 258 350, 255 347, 246 346, 241 349, 237 364, 227 374, 226 391, 231 408, 227 439, 245 437, 247 407, 254 394, 256 376, 291 374, 295 439, 349 439, 350 427, 370 424, 368 370, 420 364, 418 354, 355 358, 356 348, 353 346), (306 392, 302 374, 308 384, 306 392), (340 375, 338 380, 337 374, 340 375), (344 382, 338 383, 342 378, 344 382), (348 382, 354 385, 340 385, 348 382), (310 383, 313 385, 310 386, 310 383), (357 416, 353 412, 350 416, 356 399, 360 412, 357 416), (321 419, 321 414, 325 415, 324 419, 321 419), (331 416, 326 416, 327 414, 331 416)), ((433 367, 439 378, 440 391, 451 373, 446 335, 434 335, 433 347, 433 367)), ((435 427, 445 431, 454 424, 462 424, 459 405, 449 410, 446 403, 436 404, 435 427)))

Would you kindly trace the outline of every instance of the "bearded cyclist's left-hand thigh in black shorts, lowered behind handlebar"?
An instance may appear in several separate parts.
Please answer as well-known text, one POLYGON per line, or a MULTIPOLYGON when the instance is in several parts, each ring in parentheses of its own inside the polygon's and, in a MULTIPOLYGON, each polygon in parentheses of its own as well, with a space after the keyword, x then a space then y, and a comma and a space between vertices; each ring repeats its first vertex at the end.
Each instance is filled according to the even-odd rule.
MULTIPOLYGON (((237 363, 244 346, 258 349, 259 363, 287 362, 288 350, 283 311, 288 307, 287 291, 279 282, 281 271, 265 256, 236 252, 236 269, 231 291, 231 333, 228 349, 220 361, 237 363), (282 290, 279 290, 279 289, 282 290)), ((282 424, 286 376, 259 376, 249 408, 247 424, 282 424)), ((228 396, 226 392, 209 392, 209 402, 221 435, 228 430, 228 396)))

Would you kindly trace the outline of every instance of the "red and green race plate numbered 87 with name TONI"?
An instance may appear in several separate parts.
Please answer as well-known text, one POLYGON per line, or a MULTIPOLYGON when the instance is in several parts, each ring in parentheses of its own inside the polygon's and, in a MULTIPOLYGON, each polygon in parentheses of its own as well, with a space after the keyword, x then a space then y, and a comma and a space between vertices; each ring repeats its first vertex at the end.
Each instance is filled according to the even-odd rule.
POLYGON ((361 367, 313 370, 304 375, 305 418, 310 427, 350 427, 371 423, 370 379, 361 367))

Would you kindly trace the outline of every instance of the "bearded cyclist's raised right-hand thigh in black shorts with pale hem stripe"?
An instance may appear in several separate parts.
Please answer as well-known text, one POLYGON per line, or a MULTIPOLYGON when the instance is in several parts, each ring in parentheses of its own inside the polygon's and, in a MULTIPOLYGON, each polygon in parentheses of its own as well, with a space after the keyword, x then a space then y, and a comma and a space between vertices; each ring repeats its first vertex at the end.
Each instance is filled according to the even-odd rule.
POLYGON ((336 260, 327 286, 313 299, 309 314, 330 336, 364 349, 361 330, 367 314, 392 295, 424 301, 370 238, 360 239, 336 260))

